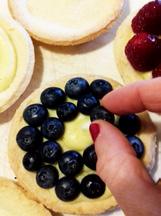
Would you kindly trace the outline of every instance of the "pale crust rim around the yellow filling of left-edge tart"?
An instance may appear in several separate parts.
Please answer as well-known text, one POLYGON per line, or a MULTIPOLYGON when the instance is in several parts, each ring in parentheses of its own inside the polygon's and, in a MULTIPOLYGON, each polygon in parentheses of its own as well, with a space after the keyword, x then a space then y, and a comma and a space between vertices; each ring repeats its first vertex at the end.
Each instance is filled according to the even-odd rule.
POLYGON ((25 91, 34 67, 34 48, 28 33, 12 18, 0 16, 0 25, 7 32, 15 48, 17 67, 9 87, 0 92, 0 113, 9 108, 25 91))

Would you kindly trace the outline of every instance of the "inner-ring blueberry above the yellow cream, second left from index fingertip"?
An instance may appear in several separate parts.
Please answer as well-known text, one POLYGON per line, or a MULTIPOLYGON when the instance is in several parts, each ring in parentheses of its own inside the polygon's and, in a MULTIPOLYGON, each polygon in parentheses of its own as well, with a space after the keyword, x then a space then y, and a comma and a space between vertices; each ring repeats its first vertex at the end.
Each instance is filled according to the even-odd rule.
POLYGON ((61 104, 60 106, 58 106, 56 112, 57 112, 57 116, 62 121, 71 121, 78 114, 77 107, 73 103, 70 103, 70 102, 65 102, 61 104))

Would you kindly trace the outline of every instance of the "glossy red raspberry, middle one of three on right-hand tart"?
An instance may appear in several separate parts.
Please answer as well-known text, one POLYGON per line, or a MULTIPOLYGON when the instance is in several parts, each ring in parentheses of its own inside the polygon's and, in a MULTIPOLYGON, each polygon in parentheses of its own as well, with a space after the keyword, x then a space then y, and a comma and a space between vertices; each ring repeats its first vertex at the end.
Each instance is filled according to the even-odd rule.
POLYGON ((129 40, 125 54, 139 71, 149 71, 161 63, 161 40, 155 35, 139 33, 129 40))

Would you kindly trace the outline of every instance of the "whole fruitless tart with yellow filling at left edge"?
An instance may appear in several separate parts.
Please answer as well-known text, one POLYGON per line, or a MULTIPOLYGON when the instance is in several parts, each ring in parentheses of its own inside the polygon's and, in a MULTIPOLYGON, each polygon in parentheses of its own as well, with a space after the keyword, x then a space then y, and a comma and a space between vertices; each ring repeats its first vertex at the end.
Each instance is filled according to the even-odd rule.
POLYGON ((28 33, 9 16, 0 15, 0 113, 25 91, 34 61, 34 48, 28 33))

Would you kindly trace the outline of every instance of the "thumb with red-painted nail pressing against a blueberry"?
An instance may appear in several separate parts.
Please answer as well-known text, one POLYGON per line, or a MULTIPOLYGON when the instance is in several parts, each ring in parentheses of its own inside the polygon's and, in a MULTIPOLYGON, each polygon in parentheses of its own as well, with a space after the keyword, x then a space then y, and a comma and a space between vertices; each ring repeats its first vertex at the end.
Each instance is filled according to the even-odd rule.
POLYGON ((154 183, 128 140, 117 128, 102 120, 93 122, 90 132, 98 158, 97 173, 120 207, 125 211, 135 209, 142 200, 143 207, 147 192, 152 192, 154 183))

